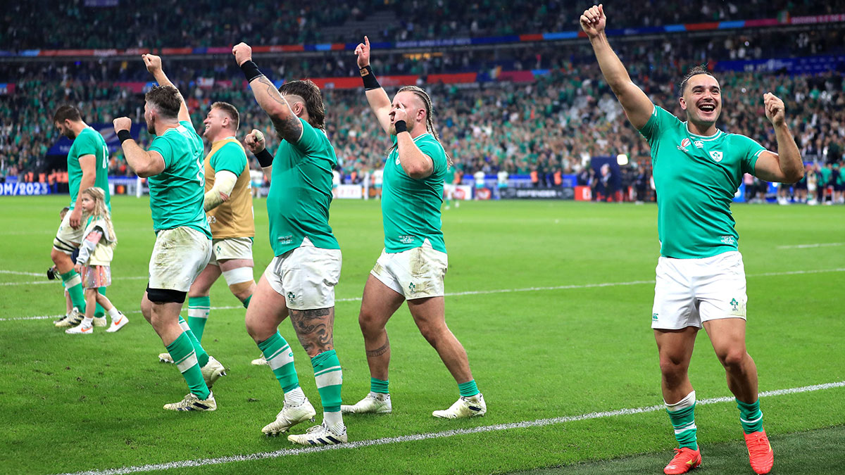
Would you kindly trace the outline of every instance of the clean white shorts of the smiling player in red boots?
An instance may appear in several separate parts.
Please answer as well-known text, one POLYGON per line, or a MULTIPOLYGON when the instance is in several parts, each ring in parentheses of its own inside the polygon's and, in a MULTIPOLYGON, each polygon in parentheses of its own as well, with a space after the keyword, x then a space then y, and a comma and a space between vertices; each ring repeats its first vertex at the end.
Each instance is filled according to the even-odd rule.
POLYGON ((679 330, 714 319, 745 319, 742 254, 730 251, 702 259, 657 260, 651 328, 679 330))

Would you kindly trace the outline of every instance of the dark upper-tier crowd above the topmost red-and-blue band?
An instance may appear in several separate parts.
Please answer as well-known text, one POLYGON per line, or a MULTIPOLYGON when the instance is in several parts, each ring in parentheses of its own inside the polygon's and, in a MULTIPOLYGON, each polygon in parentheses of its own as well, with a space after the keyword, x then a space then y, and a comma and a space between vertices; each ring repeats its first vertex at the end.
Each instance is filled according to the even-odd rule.
MULTIPOLYGON (((618 28, 701 23, 789 15, 839 14, 843 0, 702 0, 646 4, 615 2, 618 28)), ((351 0, 308 3, 281 9, 258 0, 238 8, 223 0, 134 4, 120 8, 110 0, 83 2, 18 2, 0 15, 0 45, 8 50, 32 48, 133 48, 226 46, 238 41, 282 45, 350 42, 349 35, 368 33, 373 41, 433 40, 542 33, 578 29, 581 3, 552 0, 478 0, 476 2, 399 2, 351 0), (161 11, 172 12, 163 15, 161 11), (268 14, 273 12, 273 14, 268 14), (373 14, 386 14, 389 24, 378 31, 359 26, 373 14), (458 19, 471 19, 458 21, 458 19), (90 25, 96 35, 79 35, 76 25, 90 25), (346 28, 343 28, 346 26, 346 28), (334 27, 334 28, 332 28, 334 27), (340 27, 340 28, 339 28, 340 27), (44 32, 49 35, 44 35, 44 32)), ((366 25, 366 23, 364 23, 366 25)))

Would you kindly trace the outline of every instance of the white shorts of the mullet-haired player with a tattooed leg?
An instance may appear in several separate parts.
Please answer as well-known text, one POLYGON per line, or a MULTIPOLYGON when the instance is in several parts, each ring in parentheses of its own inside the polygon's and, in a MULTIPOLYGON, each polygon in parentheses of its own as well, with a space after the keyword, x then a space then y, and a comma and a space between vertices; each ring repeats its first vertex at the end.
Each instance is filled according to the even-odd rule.
POLYGON ((341 249, 315 248, 305 238, 298 248, 273 258, 264 276, 275 292, 285 296, 287 308, 330 308, 335 306, 341 264, 341 249))

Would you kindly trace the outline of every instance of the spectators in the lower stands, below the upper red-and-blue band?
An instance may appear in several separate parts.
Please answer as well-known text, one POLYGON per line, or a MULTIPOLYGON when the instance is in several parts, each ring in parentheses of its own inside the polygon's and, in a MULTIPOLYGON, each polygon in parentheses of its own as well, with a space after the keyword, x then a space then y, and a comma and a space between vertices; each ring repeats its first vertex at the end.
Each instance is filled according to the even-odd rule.
MULTIPOLYGON (((635 83, 653 101, 680 114, 676 82, 693 63, 760 57, 810 56, 845 52, 845 30, 802 30, 792 41, 777 41, 776 30, 739 35, 666 36, 660 46, 652 40, 620 41, 617 51, 635 83)), ((166 59, 166 58, 165 58, 166 59)), ((167 61, 167 59, 166 59, 167 61)), ((264 58, 259 61, 272 79, 355 77, 350 52, 315 56, 264 58)), ((841 68, 842 65, 840 65, 841 68)), ((430 55, 402 55, 389 50, 373 61, 379 75, 480 72, 494 78, 500 70, 547 69, 534 83, 488 82, 477 87, 428 84, 438 112, 437 123, 458 171, 493 174, 537 172, 541 182, 553 183, 555 172, 578 174, 590 156, 625 154, 631 162, 649 167, 644 140, 625 121, 595 63, 591 47, 532 46, 489 50, 448 49, 430 55)), ((171 77, 188 100, 194 125, 199 127, 214 101, 227 101, 241 111, 241 133, 259 128, 273 137, 244 88, 243 74, 221 56, 172 60, 171 77), (201 85, 199 78, 215 79, 201 85)), ((720 127, 757 139, 773 148, 762 112, 767 90, 786 101, 790 125, 805 161, 842 161, 845 145, 845 82, 842 71, 827 74, 717 73, 722 81, 725 112, 720 127)), ((15 82, 14 94, 0 96, 0 177, 24 175, 38 179, 46 170, 46 153, 58 135, 50 114, 61 103, 79 106, 89 123, 111 123, 128 115, 143 123, 140 96, 121 82, 149 81, 140 61, 86 60, 71 62, 0 63, 0 82, 15 82), (31 174, 30 174, 31 173, 31 174)), ((360 90, 325 89, 330 134, 343 174, 353 181, 379 168, 387 144, 369 119, 360 90)), ((142 133, 144 144, 150 136, 142 133)), ((131 175, 122 152, 110 158, 112 175, 131 175)))

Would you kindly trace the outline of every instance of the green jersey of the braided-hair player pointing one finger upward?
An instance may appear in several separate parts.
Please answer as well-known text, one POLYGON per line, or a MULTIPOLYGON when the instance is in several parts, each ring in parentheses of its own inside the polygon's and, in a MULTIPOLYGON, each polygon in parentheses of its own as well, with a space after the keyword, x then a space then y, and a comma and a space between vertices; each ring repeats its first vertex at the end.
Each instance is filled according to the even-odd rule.
MULTIPOLYGON (((393 143, 396 136, 393 135, 393 143)), ((401 253, 423 245, 428 239, 432 248, 446 252, 440 230, 440 205, 443 204, 443 182, 449 167, 443 145, 432 134, 414 139, 417 148, 431 158, 434 170, 428 177, 409 177, 399 161, 399 149, 390 151, 384 163, 381 192, 381 216, 384 221, 384 249, 401 253)))

